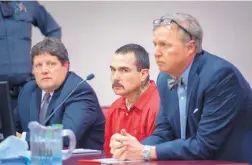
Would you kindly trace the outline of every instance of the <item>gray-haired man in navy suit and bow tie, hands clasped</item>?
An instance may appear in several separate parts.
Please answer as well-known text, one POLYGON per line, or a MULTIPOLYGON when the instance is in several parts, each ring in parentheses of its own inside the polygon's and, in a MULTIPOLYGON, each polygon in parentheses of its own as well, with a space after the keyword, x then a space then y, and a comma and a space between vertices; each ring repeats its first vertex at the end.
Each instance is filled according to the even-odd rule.
POLYGON ((195 18, 154 21, 161 105, 154 133, 139 143, 121 130, 111 138, 119 159, 212 159, 252 163, 252 92, 238 69, 202 50, 195 18))

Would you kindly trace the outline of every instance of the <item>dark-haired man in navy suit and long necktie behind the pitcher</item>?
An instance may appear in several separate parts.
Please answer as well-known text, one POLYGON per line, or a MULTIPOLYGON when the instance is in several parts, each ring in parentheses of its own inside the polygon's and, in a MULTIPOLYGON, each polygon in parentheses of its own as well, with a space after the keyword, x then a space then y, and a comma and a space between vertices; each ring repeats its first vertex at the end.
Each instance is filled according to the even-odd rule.
POLYGON ((27 133, 29 140, 30 121, 63 124, 64 129, 74 132, 77 147, 102 149, 104 115, 92 87, 87 82, 80 83, 83 79, 69 71, 68 53, 63 43, 59 39, 45 38, 32 48, 31 56, 35 80, 28 82, 18 97, 17 135, 27 133), (48 120, 55 110, 57 112, 48 120))

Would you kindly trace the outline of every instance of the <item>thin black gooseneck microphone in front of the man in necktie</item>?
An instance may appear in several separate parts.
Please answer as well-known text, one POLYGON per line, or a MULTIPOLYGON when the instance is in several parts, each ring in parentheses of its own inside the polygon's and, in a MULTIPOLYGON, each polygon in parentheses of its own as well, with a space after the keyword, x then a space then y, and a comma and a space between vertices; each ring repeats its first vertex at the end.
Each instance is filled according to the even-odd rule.
POLYGON ((45 125, 51 118, 52 116, 59 110, 60 106, 72 95, 72 93, 84 82, 88 81, 88 80, 92 80, 94 78, 94 74, 91 73, 89 74, 86 79, 82 80, 81 82, 79 82, 75 88, 66 96, 66 98, 54 109, 54 111, 44 120, 43 125, 45 125))

